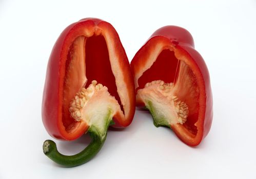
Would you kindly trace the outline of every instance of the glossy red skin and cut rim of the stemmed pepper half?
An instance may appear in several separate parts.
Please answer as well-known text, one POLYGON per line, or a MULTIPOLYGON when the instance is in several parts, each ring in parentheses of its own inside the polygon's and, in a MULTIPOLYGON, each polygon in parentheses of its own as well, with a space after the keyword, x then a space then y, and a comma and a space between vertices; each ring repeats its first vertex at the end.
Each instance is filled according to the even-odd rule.
MULTIPOLYGON (((69 133, 65 130, 63 126, 62 119, 62 110, 60 106, 62 105, 63 91, 63 76, 65 74, 64 63, 65 59, 62 57, 63 54, 67 54, 68 47, 71 44, 71 40, 77 29, 86 27, 88 29, 94 29, 101 27, 111 34, 112 40, 115 41, 116 53, 122 57, 122 66, 121 71, 125 73, 124 81, 128 86, 129 98, 130 101, 130 113, 126 114, 126 120, 123 120, 118 114, 114 116, 115 125, 114 127, 126 127, 128 126, 133 119, 135 113, 135 94, 134 94, 134 83, 132 81, 132 74, 130 71, 130 65, 128 58, 126 56, 125 50, 122 46, 122 43, 119 39, 119 36, 115 29, 106 21, 97 18, 84 18, 76 23, 68 26, 58 37, 57 41, 54 44, 52 49, 46 73, 46 81, 43 93, 43 102, 42 102, 42 119, 46 130, 49 135, 61 140, 75 140, 82 136, 89 128, 86 123, 81 123, 76 131, 69 133)), ((78 31, 78 30, 77 30, 78 31)), ((96 32, 95 32, 96 33, 96 32)))

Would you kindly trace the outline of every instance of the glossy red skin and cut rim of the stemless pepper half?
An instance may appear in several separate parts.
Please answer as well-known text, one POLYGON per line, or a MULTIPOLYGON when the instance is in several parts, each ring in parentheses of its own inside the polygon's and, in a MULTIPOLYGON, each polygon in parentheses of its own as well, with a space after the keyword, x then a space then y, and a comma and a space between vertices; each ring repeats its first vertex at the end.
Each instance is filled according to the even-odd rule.
MULTIPOLYGON (((145 62, 144 60, 147 60, 147 58, 141 58, 150 53, 150 51, 146 51, 145 49, 153 49, 153 47, 150 47, 152 46, 151 42, 156 40, 167 41, 170 46, 175 47, 175 51, 178 52, 178 56, 186 57, 190 64, 191 70, 197 74, 196 77, 200 78, 200 114, 203 114, 203 117, 200 119, 200 123, 198 123, 198 133, 196 137, 191 139, 189 136, 192 135, 190 135, 188 132, 183 132, 183 126, 181 124, 171 126, 172 130, 180 140, 189 146, 196 146, 200 144, 202 139, 207 136, 213 118, 212 92, 207 66, 202 56, 194 49, 194 40, 186 29, 177 26, 165 26, 156 30, 132 59, 131 69, 133 76, 135 76, 136 72, 142 68, 145 62)), ((141 103, 137 102, 136 105, 140 106, 141 103)))

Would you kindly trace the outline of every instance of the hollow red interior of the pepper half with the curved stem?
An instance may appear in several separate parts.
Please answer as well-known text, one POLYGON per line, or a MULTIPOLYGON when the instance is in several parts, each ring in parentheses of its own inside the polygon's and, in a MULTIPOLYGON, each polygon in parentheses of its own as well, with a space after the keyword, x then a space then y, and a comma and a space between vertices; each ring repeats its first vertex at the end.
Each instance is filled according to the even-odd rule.
MULTIPOLYGON (((124 114, 123 105, 117 93, 115 77, 111 69, 107 43, 103 35, 77 37, 69 47, 65 66, 62 122, 68 132, 79 124, 70 115, 70 101, 83 87, 88 88, 93 80, 97 80, 103 86, 107 86, 108 93, 116 99, 124 114)), ((79 115, 78 112, 77 114, 79 115)))

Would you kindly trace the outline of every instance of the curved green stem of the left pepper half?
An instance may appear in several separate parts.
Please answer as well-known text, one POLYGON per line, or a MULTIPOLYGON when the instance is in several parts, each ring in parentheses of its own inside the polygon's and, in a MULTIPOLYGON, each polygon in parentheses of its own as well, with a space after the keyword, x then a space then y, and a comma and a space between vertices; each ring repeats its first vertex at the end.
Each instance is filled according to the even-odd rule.
POLYGON ((89 131, 89 134, 91 136, 91 142, 80 153, 77 153, 75 155, 63 155, 60 152, 58 152, 55 142, 51 140, 46 140, 44 142, 44 153, 52 161, 66 167, 75 167, 78 165, 82 165, 90 161, 101 150, 107 138, 107 133, 104 137, 100 137, 92 131, 89 131))

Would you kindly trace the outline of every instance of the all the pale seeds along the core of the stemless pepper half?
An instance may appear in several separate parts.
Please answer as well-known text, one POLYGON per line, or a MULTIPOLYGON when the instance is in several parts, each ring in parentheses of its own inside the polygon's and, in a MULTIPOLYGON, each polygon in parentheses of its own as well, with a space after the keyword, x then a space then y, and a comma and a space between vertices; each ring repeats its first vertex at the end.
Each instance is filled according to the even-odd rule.
MULTIPOLYGON (((146 83, 145 87, 151 86, 153 84, 158 84, 159 85, 158 88, 161 89, 163 92, 165 92, 165 94, 170 92, 171 89, 174 87, 173 83, 165 83, 162 80, 155 80, 155 81, 146 83)), ((168 98, 170 100, 173 100, 174 109, 178 116, 178 121, 179 123, 183 124, 184 122, 186 122, 188 117, 188 105, 185 102, 180 101, 177 96, 173 96, 173 95, 169 96, 169 95, 168 95, 168 98)))

